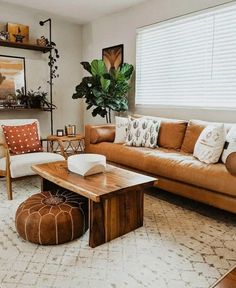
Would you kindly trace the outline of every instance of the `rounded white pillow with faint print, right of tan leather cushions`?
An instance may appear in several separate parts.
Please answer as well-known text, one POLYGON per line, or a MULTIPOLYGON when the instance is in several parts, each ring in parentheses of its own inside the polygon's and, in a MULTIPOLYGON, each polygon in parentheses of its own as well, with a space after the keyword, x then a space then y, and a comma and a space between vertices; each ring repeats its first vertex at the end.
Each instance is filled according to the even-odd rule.
POLYGON ((224 125, 209 125, 200 134, 193 156, 207 164, 217 163, 224 148, 224 125))

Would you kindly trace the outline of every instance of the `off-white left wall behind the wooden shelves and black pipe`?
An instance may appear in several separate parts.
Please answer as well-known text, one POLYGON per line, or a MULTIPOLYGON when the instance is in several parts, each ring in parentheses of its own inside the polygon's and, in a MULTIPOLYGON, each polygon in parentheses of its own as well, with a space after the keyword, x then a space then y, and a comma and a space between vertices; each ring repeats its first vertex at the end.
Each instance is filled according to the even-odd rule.
MULTIPOLYGON (((1 2, 0 11, 0 28, 7 22, 20 23, 30 26, 30 38, 32 41, 42 35, 48 37, 48 26, 42 27, 38 23, 40 20, 47 19, 49 15, 1 2)), ((57 128, 64 128, 65 124, 76 124, 81 131, 83 129, 83 109, 80 101, 72 99, 72 94, 76 84, 81 81, 79 63, 82 53, 82 29, 79 25, 63 19, 51 18, 53 21, 52 37, 60 54, 58 62, 60 77, 54 81, 53 87, 53 102, 57 106, 57 109, 54 110, 54 132, 57 128)), ((42 86, 44 90, 48 91, 46 83, 49 76, 48 54, 7 47, 0 47, 0 54, 25 57, 27 89, 37 89, 38 86, 42 86)), ((6 118, 38 118, 42 135, 46 136, 50 133, 49 112, 0 111, 0 119, 6 118)))

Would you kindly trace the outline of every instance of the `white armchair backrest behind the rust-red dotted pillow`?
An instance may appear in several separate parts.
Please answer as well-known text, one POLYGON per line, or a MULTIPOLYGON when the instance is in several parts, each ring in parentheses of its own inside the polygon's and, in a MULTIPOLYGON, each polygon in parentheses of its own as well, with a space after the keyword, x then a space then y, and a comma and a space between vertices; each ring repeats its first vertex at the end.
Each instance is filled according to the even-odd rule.
MULTIPOLYGON (((0 143, 6 143, 2 125, 20 126, 20 125, 25 125, 25 124, 31 124, 34 122, 37 123, 38 134, 40 138, 40 127, 39 127, 39 121, 37 119, 3 119, 3 120, 0 120, 0 143)), ((2 157, 4 157, 4 148, 0 147, 0 158, 2 157)))

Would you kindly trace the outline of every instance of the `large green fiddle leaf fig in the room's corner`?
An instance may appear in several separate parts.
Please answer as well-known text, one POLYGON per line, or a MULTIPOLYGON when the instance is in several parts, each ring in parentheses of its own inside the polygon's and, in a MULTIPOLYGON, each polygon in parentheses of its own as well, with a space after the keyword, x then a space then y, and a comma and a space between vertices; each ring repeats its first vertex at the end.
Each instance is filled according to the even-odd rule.
POLYGON ((91 76, 84 77, 76 86, 73 99, 85 98, 87 110, 93 108, 92 116, 106 117, 107 123, 111 123, 111 110, 127 111, 130 89, 129 80, 133 73, 133 65, 123 63, 117 69, 106 68, 103 60, 81 62, 81 65, 91 76))

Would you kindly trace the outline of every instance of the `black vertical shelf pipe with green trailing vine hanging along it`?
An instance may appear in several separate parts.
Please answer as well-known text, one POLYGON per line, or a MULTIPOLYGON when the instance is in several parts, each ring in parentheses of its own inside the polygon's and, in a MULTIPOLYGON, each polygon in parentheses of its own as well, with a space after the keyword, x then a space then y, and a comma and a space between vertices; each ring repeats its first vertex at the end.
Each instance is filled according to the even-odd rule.
MULTIPOLYGON (((41 37, 42 39, 45 38, 46 41, 46 46, 50 47, 49 50, 49 69, 50 69, 50 76, 49 76, 49 98, 50 98, 50 104, 53 105, 53 99, 52 99, 52 85, 53 85, 53 79, 57 78, 59 75, 56 74, 56 71, 58 69, 58 66, 56 65, 56 59, 59 58, 59 54, 58 54, 58 50, 56 49, 56 44, 54 42, 52 42, 52 20, 50 18, 44 20, 44 21, 40 21, 39 25, 40 26, 44 26, 46 23, 48 23, 48 34, 49 34, 49 39, 45 38, 45 37, 41 37), (51 49, 51 47, 53 47, 51 49), (53 51, 52 51, 53 50, 53 51), (55 55, 55 57, 53 57, 55 55)), ((51 111, 51 134, 53 134, 53 109, 50 110, 51 111)))

